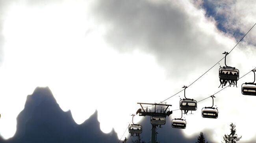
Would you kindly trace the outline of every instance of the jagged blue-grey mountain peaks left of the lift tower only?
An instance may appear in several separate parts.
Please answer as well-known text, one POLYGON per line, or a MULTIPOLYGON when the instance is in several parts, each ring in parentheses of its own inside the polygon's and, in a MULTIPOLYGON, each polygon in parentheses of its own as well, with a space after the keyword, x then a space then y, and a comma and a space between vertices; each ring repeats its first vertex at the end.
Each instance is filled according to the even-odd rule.
POLYGON ((117 143, 117 133, 100 130, 97 111, 78 125, 71 112, 64 112, 48 87, 37 87, 28 95, 17 117, 17 131, 0 143, 117 143))

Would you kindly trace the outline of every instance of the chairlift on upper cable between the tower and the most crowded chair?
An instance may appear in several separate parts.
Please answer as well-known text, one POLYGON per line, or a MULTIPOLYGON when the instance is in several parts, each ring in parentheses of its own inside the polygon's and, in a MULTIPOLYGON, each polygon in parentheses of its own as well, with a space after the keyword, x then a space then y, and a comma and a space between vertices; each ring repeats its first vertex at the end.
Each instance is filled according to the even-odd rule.
POLYGON ((186 98, 186 86, 182 87, 185 88, 184 89, 184 97, 185 99, 180 99, 180 110, 191 110, 191 111, 195 111, 197 110, 197 101, 194 99, 188 99, 186 98))

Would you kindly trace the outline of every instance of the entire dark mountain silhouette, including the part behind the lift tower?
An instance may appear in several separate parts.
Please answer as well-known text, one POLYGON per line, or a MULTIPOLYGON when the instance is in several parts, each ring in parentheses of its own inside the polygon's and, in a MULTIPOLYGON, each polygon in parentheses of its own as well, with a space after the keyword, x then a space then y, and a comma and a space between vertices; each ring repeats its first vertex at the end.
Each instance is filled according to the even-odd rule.
MULTIPOLYGON (((161 143, 193 143, 198 135, 184 137, 182 129, 171 127, 170 117, 166 118, 163 128, 157 127, 157 141, 161 143)), ((139 122, 143 127, 142 140, 150 142, 150 117, 146 116, 139 122)), ((185 129, 186 130, 186 129, 185 129)), ((128 137, 132 143, 137 137, 128 137)), ((206 139, 209 141, 208 139, 206 139)), ((64 112, 56 102, 48 87, 37 87, 32 95, 28 95, 24 109, 17 117, 17 131, 12 138, 0 143, 118 143, 115 130, 105 134, 100 130, 98 113, 78 125, 70 111, 64 112)), ((119 142, 122 143, 122 140, 119 142)))

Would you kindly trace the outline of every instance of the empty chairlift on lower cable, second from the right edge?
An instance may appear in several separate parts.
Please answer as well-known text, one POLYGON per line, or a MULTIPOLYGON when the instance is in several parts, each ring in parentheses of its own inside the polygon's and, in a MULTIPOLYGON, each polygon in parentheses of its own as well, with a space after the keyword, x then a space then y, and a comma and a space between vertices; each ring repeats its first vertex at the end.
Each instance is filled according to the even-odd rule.
POLYGON ((215 98, 215 96, 211 96, 212 98, 212 106, 211 107, 204 107, 202 108, 202 117, 203 118, 218 118, 218 109, 213 107, 213 97, 215 98))

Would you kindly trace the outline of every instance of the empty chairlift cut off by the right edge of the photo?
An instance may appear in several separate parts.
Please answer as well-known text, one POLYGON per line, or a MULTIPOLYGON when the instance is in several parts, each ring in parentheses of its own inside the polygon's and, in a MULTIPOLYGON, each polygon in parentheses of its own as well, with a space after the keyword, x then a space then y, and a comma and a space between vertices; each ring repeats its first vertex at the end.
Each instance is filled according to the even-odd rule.
POLYGON ((256 96, 256 83, 255 82, 255 72, 256 70, 253 69, 252 72, 254 73, 254 81, 249 83, 242 84, 242 94, 243 95, 252 95, 256 96))

